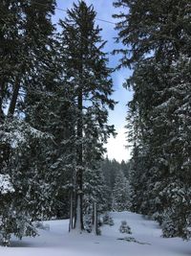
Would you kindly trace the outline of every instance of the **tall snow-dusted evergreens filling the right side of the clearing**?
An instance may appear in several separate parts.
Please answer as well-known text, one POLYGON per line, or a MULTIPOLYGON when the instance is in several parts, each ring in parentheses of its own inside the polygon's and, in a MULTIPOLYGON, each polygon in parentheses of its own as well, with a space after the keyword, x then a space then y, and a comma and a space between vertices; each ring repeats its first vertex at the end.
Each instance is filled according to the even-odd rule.
POLYGON ((120 65, 134 68, 126 85, 135 90, 127 120, 135 145, 134 197, 142 198, 136 207, 154 214, 165 236, 188 238, 189 1, 118 0, 115 5, 126 10, 115 15, 121 19, 117 40, 126 47, 117 51, 123 54, 120 65))

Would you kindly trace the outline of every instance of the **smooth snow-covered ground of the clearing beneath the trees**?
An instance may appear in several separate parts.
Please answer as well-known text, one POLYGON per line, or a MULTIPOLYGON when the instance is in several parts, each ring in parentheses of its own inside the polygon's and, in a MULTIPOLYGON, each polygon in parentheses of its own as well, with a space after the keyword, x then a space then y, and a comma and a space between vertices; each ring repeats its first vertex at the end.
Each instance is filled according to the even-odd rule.
POLYGON ((115 225, 104 225, 102 235, 68 233, 68 221, 46 221, 50 230, 39 230, 38 237, 13 239, 11 247, 0 247, 1 256, 186 256, 191 242, 164 239, 158 223, 129 212, 111 213, 115 225), (132 234, 118 231, 127 221, 132 234), (129 241, 121 240, 126 238, 129 241))

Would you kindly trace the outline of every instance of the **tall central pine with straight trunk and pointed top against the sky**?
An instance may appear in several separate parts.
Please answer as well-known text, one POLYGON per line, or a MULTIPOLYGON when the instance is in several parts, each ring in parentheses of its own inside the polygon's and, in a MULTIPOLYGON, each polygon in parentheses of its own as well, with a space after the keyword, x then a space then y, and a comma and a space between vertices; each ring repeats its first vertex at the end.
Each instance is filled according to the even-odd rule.
POLYGON ((114 108, 111 69, 107 67, 107 55, 102 52, 100 29, 95 26, 96 12, 80 1, 60 21, 62 33, 61 55, 65 69, 65 81, 74 96, 74 186, 75 221, 74 227, 83 229, 83 174, 86 168, 95 169, 96 160, 104 152, 113 126, 107 125, 107 107, 114 108), (93 163, 91 165, 91 163, 93 163))

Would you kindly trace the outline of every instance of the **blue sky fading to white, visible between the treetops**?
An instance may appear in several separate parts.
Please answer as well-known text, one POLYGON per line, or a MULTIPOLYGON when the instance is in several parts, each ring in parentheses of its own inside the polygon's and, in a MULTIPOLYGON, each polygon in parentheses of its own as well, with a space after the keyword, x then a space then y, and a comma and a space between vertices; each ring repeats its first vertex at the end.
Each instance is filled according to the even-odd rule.
MULTIPOLYGON (((57 8, 60 9, 71 9, 73 7, 73 3, 77 2, 74 0, 57 0, 57 8)), ((116 20, 112 17, 112 14, 119 12, 119 10, 113 7, 113 0, 85 0, 87 5, 93 5, 96 10, 96 18, 104 19, 111 22, 116 22, 116 20)), ((59 18, 63 19, 66 16, 66 12, 56 10, 55 16, 53 18, 53 22, 56 23, 59 18)), ((119 48, 120 46, 115 43, 114 37, 117 36, 117 31, 115 30, 115 25, 102 22, 96 20, 96 23, 102 28, 102 38, 107 40, 107 44, 105 46, 105 52, 111 53, 114 49, 119 48)), ((109 65, 110 67, 116 67, 118 62, 118 57, 109 55, 109 65)), ((108 157, 116 158, 118 161, 128 160, 130 158, 130 151, 125 149, 126 135, 124 126, 125 117, 127 113, 127 103, 132 99, 132 92, 123 88, 122 83, 125 78, 130 76, 131 72, 128 69, 121 69, 116 71, 113 74, 114 81, 114 90, 113 99, 118 102, 114 111, 110 111, 109 115, 109 124, 114 124, 117 129, 117 137, 110 138, 108 140, 108 144, 106 145, 108 149, 108 157)))

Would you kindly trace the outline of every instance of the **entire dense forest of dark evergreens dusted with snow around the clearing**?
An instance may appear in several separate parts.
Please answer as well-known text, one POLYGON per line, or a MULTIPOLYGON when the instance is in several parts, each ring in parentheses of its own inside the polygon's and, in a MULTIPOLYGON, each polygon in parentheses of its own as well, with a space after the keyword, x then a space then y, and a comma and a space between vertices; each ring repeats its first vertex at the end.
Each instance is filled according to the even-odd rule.
POLYGON ((74 3, 53 25, 54 0, 0 1, 3 244, 53 218, 91 231, 96 211, 131 210, 159 221, 165 237, 191 236, 191 5, 114 6, 117 68, 133 71, 128 163, 104 158, 117 103, 94 7, 74 3))

